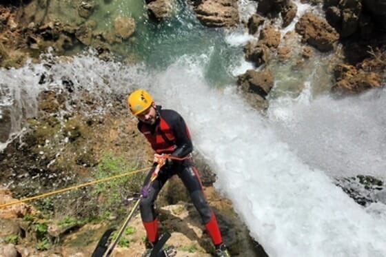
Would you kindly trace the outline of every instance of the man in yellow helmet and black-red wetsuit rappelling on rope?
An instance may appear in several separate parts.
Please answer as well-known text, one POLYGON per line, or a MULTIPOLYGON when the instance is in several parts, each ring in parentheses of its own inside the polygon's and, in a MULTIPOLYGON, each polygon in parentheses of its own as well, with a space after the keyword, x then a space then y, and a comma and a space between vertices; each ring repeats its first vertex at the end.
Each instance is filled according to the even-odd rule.
MULTIPOLYGON (((187 188, 190 197, 199 212, 203 224, 212 242, 216 247, 216 256, 230 256, 221 238, 219 225, 214 212, 210 209, 196 168, 192 164, 192 141, 185 121, 174 110, 164 110, 156 105, 152 96, 145 90, 136 90, 128 97, 128 105, 134 116, 139 119, 138 129, 152 145, 154 154, 154 167, 150 170, 143 185, 148 185, 155 164, 159 158, 167 158, 165 165, 161 167, 159 176, 153 181, 140 203, 141 218, 148 236, 150 245, 158 240, 158 225, 154 212, 154 201, 167 179, 175 174, 181 178, 187 188)), ((143 256, 150 253, 145 251, 143 256)))

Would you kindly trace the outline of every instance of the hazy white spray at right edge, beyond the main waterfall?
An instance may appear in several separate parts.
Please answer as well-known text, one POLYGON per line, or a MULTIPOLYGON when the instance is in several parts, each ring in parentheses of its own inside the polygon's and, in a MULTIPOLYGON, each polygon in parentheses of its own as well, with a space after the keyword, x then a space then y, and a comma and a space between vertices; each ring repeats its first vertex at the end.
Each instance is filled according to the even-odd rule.
POLYGON ((386 178, 386 90, 334 100, 297 99, 270 102, 268 114, 282 141, 303 161, 329 176, 358 174, 386 178))

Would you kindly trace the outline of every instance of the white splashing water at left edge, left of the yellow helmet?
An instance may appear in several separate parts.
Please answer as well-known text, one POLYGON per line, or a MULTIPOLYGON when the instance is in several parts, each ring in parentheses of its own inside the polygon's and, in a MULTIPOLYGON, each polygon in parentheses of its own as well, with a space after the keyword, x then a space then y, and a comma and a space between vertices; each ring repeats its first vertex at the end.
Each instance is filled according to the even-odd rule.
MULTIPOLYGON (((12 138, 19 136, 26 126, 26 119, 37 115, 38 97, 45 90, 52 90, 59 94, 65 94, 70 100, 77 99, 77 95, 85 90, 90 92, 93 101, 98 101, 101 106, 109 106, 114 96, 128 93, 128 84, 138 85, 141 81, 134 81, 133 72, 141 70, 136 66, 131 70, 125 70, 119 63, 106 63, 93 56, 75 56, 70 59, 56 59, 47 54, 39 64, 27 63, 23 68, 4 70, 0 69, 2 79, 1 91, 5 96, 0 99, 1 112, 7 110, 10 118, 8 138, 6 142, 0 142, 0 151, 3 150, 12 138), (121 70, 125 70, 122 72, 121 70), (79 71, 79 72, 78 72, 79 71), (45 79, 42 79, 42 75, 45 79), (72 85, 66 86, 64 81, 71 81, 72 85), (113 83, 110 87, 108 83, 113 83)), ((70 101, 65 104, 64 112, 73 112, 70 101)), ((87 111, 85 111, 87 112, 87 111)), ((103 110, 93 110, 103 112, 103 110)), ((3 121, 1 116, 0 123, 3 121)))

